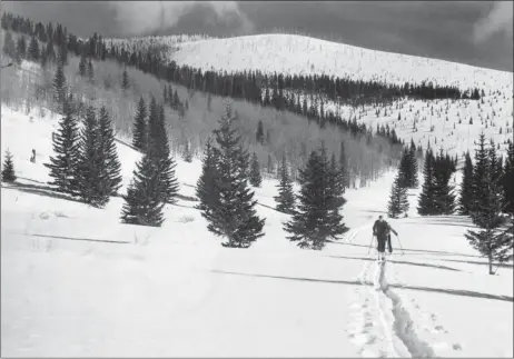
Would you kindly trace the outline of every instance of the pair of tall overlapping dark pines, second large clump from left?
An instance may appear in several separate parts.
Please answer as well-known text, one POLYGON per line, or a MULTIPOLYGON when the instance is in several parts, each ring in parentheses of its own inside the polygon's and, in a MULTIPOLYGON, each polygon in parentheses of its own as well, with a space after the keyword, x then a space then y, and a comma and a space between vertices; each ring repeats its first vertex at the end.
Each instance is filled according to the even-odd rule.
POLYGON ((132 144, 142 152, 127 195, 123 196, 121 221, 159 227, 164 222, 165 203, 175 203, 178 181, 175 160, 170 157, 162 104, 151 97, 148 120, 145 100, 139 101, 132 144))

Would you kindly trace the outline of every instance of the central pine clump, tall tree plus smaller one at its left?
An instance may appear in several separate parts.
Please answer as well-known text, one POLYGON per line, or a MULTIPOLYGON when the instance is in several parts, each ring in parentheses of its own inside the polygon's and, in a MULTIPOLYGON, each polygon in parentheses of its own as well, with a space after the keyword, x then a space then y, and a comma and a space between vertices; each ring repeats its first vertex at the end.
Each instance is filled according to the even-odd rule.
POLYGON ((254 192, 248 186, 250 159, 235 130, 237 117, 228 106, 209 140, 197 183, 198 209, 209 222, 208 230, 225 238, 225 247, 248 248, 264 236, 265 219, 257 216, 254 192))

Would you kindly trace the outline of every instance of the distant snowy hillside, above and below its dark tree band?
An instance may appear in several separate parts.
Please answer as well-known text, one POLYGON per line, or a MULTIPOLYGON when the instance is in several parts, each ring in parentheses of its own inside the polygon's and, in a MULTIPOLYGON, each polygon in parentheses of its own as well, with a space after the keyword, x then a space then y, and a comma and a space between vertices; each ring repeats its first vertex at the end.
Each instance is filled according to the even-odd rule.
MULTIPOLYGON (((165 38, 154 40, 162 44, 169 42, 165 38)), ((297 34, 191 40, 169 46, 168 52, 169 58, 178 64, 202 70, 325 73, 385 83, 432 81, 461 89, 478 87, 484 90, 483 101, 401 101, 387 108, 387 114, 382 109, 378 117, 374 107, 357 111, 326 101, 325 109, 340 111, 349 119, 355 117, 373 129, 377 123, 388 123, 405 141, 414 139, 416 144, 421 143, 424 148, 429 143, 434 148, 448 150, 452 156, 462 154, 468 149, 473 152, 473 142, 482 131, 501 143, 501 151, 506 149, 505 141, 513 138, 512 72, 363 49, 297 34), (401 121, 397 121, 398 113, 401 121)))

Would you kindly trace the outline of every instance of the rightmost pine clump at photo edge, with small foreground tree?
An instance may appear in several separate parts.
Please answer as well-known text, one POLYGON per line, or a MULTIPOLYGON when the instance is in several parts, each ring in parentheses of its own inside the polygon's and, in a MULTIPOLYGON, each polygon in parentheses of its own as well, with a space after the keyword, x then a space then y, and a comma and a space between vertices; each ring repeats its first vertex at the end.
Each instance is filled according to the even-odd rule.
POLYGON ((466 153, 461 185, 461 213, 472 218, 478 230, 465 235, 472 246, 488 258, 490 275, 494 275, 493 261, 508 261, 513 258, 514 243, 514 146, 508 144, 505 166, 491 141, 488 148, 484 133, 475 151, 475 163, 466 153), (511 216, 508 220, 504 216, 511 216))

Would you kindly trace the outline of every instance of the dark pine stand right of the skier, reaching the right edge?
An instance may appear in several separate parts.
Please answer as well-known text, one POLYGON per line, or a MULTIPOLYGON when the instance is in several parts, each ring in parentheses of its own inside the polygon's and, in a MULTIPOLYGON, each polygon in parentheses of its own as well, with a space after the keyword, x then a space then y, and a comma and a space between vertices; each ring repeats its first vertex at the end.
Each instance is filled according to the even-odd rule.
POLYGON ((456 171, 456 159, 427 149, 424 166, 423 191, 418 213, 469 216, 477 230, 468 230, 465 237, 472 246, 488 259, 490 275, 494 275, 493 261, 513 259, 514 245, 514 146, 508 141, 505 163, 491 140, 480 136, 474 162, 465 154, 459 198, 449 179, 456 171))

